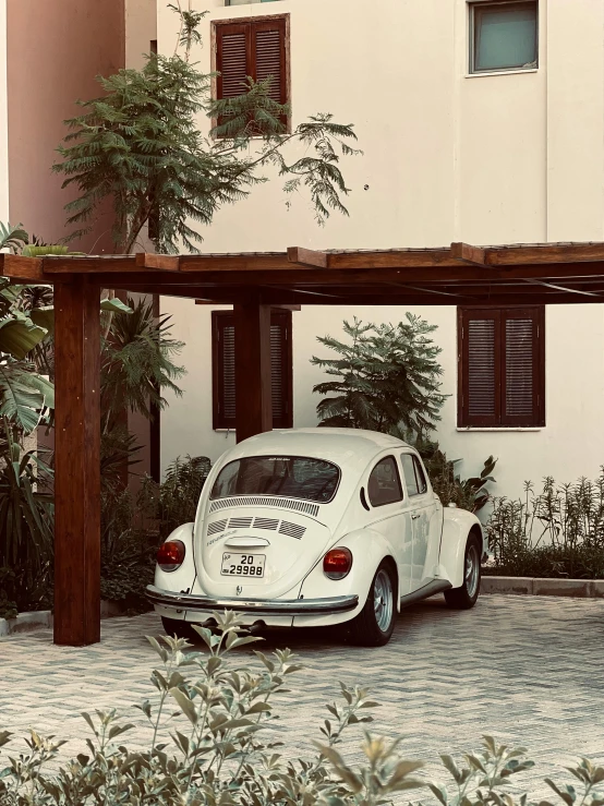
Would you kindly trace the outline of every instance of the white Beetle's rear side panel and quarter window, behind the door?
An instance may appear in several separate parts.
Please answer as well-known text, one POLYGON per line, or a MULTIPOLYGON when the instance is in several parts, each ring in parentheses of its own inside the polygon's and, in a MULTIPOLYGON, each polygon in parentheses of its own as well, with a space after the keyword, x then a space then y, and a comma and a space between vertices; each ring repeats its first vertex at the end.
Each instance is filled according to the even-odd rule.
POLYGON ((399 573, 399 597, 411 587, 412 526, 394 456, 379 459, 367 481, 370 528, 384 536, 392 550, 399 573))

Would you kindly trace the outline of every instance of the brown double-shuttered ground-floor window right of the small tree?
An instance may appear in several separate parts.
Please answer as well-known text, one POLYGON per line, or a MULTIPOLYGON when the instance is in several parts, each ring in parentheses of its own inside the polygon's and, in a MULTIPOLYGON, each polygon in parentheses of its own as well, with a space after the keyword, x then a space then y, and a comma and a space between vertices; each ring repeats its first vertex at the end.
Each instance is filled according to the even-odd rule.
POLYGON ((545 425, 544 308, 458 309, 460 426, 545 425))

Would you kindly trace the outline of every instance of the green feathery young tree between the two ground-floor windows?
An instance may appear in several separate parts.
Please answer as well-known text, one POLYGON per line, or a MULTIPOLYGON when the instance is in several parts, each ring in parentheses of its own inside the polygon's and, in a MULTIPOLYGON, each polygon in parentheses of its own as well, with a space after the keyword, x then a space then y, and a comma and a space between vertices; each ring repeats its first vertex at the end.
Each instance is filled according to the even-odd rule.
POLYGON ((363 324, 354 317, 343 329, 348 342, 331 336, 317 339, 339 358, 311 359, 336 378, 313 387, 326 396, 316 407, 319 424, 402 433, 413 440, 430 433, 446 399, 436 360, 442 350, 430 338, 436 325, 408 313, 407 322, 398 325, 363 324))

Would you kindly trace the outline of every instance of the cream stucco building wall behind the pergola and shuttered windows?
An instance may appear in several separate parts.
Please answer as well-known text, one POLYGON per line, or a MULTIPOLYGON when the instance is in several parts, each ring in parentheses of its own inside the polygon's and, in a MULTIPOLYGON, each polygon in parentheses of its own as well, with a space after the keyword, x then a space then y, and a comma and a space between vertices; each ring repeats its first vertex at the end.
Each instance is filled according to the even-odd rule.
MULTIPOLYGON (((208 251, 436 246, 454 240, 515 243, 604 240, 604 5, 542 0, 540 67, 517 74, 467 76, 464 0, 383 0, 379 10, 349 0, 282 0, 212 8, 209 20, 291 14, 294 122, 316 111, 354 122, 363 157, 345 163, 350 218, 317 228, 303 196, 288 212, 279 181, 225 208, 206 230, 208 251), (364 190, 369 185, 369 190, 364 190)), ((160 50, 173 48, 171 13, 159 10, 160 50)), ((205 128, 205 121, 200 121, 205 128)), ((162 416, 162 462, 178 454, 216 458, 233 441, 212 431, 210 312, 162 300, 186 342, 182 399, 162 416)), ((315 422, 309 363, 317 335, 345 317, 397 322, 406 309, 304 306, 293 314, 294 422, 315 422)), ((437 436, 462 472, 499 457, 499 494, 524 479, 593 476, 604 461, 604 309, 551 306, 546 316, 547 425, 537 431, 458 431, 456 309, 413 309, 438 325, 444 392, 437 436)))

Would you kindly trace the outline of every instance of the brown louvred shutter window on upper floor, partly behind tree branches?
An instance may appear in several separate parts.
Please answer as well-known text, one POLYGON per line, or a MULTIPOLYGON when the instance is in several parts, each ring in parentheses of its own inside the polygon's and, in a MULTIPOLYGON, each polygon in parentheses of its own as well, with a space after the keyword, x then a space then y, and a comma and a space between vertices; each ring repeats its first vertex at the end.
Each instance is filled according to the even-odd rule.
MULTIPOLYGON (((217 98, 243 95, 246 79, 270 79, 270 97, 288 103, 288 17, 215 23, 217 98)), ((287 125, 287 119, 283 119, 287 125)))

